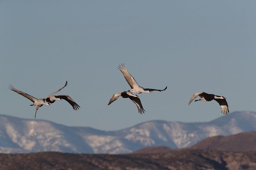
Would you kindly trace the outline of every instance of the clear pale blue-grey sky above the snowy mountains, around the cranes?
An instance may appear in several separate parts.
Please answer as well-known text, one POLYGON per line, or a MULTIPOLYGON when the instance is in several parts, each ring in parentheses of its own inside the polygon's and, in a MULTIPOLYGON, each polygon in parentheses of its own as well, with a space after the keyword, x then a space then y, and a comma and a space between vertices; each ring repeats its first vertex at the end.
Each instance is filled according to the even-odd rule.
POLYGON ((37 119, 116 130, 149 120, 205 122, 220 116, 216 101, 188 102, 196 92, 227 98, 229 111, 256 111, 255 1, 0 1, 0 114, 34 119, 35 106, 12 84, 56 101, 37 119), (118 65, 144 88, 146 114, 129 99, 118 65))

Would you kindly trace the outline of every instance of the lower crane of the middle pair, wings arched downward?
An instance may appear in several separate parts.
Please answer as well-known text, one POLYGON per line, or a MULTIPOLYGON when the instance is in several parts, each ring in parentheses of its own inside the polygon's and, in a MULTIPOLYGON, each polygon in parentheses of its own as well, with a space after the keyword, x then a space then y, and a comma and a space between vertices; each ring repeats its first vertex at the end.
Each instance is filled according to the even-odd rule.
POLYGON ((112 98, 109 100, 108 105, 110 105, 113 101, 116 101, 119 96, 121 96, 122 98, 131 99, 133 101, 133 103, 135 103, 136 106, 138 107, 139 113, 140 114, 142 114, 142 112, 144 113, 145 110, 142 107, 140 99, 138 98, 139 96, 137 94, 134 95, 134 94, 132 94, 131 92, 128 92, 128 91, 119 92, 119 93, 114 94, 112 96, 112 98))

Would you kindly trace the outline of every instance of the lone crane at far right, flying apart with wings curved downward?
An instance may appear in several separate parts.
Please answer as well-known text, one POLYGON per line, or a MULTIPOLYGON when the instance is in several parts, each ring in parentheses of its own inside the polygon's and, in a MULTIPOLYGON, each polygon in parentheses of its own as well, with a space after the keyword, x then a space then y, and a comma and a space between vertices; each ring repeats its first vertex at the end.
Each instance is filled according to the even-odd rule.
MULTIPOLYGON (((215 94, 208 94, 206 92, 199 92, 199 93, 193 94, 193 97, 190 99, 188 106, 197 96, 200 96, 201 99, 199 100, 202 100, 202 101, 212 101, 212 100, 217 101, 220 104, 221 113, 223 114, 229 113, 228 103, 226 101, 227 98, 223 96, 217 96, 215 94)), ((195 100, 195 101, 199 101, 199 100, 195 100)))

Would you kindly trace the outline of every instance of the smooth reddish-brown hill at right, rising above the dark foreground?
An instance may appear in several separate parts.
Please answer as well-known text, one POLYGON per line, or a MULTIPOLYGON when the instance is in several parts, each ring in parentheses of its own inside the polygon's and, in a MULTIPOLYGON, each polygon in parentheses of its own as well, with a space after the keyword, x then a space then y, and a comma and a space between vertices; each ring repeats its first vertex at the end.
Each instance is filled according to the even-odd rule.
POLYGON ((256 151, 256 131, 208 137, 190 148, 237 152, 256 151))

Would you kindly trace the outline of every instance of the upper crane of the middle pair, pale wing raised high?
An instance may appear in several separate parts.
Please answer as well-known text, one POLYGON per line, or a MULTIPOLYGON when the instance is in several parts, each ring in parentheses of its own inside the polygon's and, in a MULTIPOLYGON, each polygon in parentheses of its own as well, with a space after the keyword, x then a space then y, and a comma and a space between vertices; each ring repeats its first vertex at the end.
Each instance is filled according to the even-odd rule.
POLYGON ((138 85, 138 83, 135 81, 135 79, 132 77, 132 75, 126 70, 124 64, 122 64, 122 66, 119 65, 118 69, 123 73, 124 78, 126 79, 127 83, 132 88, 131 90, 129 90, 129 92, 133 92, 133 93, 139 94, 139 93, 149 93, 149 92, 152 92, 152 91, 162 92, 162 91, 167 89, 167 86, 164 88, 164 90, 144 89, 143 87, 140 87, 138 85))

